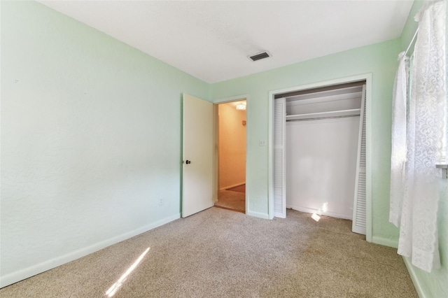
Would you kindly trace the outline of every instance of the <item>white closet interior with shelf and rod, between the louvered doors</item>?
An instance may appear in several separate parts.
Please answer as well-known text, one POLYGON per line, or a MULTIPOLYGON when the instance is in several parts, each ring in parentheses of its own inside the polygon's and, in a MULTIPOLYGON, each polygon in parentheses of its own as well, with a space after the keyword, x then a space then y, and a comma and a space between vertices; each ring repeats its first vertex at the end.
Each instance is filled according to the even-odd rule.
POLYGON ((286 97, 286 208, 353 218, 363 87, 286 97))

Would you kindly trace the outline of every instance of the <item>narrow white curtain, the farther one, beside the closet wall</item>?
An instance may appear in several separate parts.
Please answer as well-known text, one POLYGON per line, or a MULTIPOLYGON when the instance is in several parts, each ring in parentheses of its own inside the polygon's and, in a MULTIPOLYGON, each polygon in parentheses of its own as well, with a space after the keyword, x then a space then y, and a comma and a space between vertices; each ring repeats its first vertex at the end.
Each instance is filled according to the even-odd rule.
POLYGON ((398 70, 393 86, 391 207, 389 221, 395 227, 400 225, 405 185, 408 61, 405 52, 400 52, 400 55, 398 55, 398 70))

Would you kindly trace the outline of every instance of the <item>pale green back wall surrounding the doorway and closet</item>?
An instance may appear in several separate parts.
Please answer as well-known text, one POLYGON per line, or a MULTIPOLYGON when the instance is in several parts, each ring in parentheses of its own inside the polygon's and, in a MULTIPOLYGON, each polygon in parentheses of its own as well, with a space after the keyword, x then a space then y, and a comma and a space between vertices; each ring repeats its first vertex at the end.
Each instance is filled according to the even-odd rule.
POLYGON ((211 85, 214 101, 249 94, 246 187, 250 212, 268 212, 268 148, 258 146, 258 141, 268 136, 269 91, 372 73, 372 236, 377 243, 395 245, 398 229, 388 222, 388 192, 391 99, 399 48, 400 40, 395 39, 211 85))

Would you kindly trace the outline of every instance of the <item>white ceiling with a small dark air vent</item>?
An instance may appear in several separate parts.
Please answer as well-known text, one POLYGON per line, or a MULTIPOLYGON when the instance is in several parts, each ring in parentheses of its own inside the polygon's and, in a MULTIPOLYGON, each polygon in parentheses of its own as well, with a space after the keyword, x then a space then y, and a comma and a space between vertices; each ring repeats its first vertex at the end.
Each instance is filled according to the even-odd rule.
POLYGON ((401 35, 412 1, 40 1, 207 83, 401 35), (272 57, 248 59, 261 50, 272 57))

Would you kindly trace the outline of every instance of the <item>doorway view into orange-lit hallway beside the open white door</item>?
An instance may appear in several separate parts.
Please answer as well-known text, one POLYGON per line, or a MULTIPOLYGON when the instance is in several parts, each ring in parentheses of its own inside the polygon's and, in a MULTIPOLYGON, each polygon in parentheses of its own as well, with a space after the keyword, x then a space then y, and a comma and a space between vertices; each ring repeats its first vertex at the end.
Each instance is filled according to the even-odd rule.
POLYGON ((246 99, 216 104, 216 207, 246 213, 246 99))

